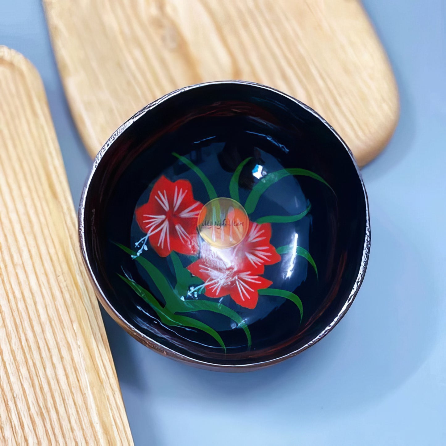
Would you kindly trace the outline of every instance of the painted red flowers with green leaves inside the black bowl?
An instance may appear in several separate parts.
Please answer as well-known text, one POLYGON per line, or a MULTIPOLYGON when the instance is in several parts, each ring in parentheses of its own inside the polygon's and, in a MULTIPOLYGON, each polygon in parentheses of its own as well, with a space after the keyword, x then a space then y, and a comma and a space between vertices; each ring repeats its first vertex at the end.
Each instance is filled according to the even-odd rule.
MULTIPOLYGON (((163 324, 206 332, 224 351, 226 346, 219 332, 188 314, 206 310, 231 319, 236 328, 244 330, 248 349, 252 344, 251 332, 236 308, 254 310, 260 299, 277 296, 297 306, 300 320, 296 323, 299 324, 304 311, 301 299, 295 293, 274 288, 271 277, 268 279, 264 275, 270 265, 281 262, 282 256, 291 249, 273 246, 273 231, 280 231, 282 224, 304 218, 311 205, 308 203, 305 211, 297 215, 269 215, 254 221, 252 214, 265 190, 286 176, 306 176, 330 186, 309 170, 281 169, 260 178, 242 204, 239 177, 250 158, 235 169, 227 195, 219 197, 212 182, 197 165, 177 153, 173 156, 194 172, 209 201, 198 201, 191 182, 186 179, 171 181, 164 175, 157 178, 148 201, 135 210, 140 240, 132 248, 119 246, 149 274, 164 301, 131 277, 124 274, 120 275, 121 279, 149 304, 163 324), (145 257, 148 250, 157 254, 159 262, 171 262, 175 285, 145 257), (188 260, 184 261, 185 258, 188 260), (235 307, 231 305, 230 308, 228 299, 235 302, 235 307)), ((317 276, 310 252, 299 246, 292 249, 294 255, 308 261, 317 276)))

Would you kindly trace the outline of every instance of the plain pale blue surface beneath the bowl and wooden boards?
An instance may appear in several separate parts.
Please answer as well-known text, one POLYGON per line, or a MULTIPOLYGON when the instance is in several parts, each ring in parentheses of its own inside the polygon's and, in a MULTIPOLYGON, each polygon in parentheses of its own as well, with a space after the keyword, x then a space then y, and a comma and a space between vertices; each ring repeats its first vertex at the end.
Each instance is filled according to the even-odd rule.
MULTIPOLYGON (((136 445, 446 445, 446 7, 364 5, 395 70, 401 119, 363 169, 372 252, 358 297, 316 346, 241 375, 163 358, 104 316, 136 445)), ((39 2, 0 1, 0 43, 41 73, 77 205, 91 160, 39 2)))

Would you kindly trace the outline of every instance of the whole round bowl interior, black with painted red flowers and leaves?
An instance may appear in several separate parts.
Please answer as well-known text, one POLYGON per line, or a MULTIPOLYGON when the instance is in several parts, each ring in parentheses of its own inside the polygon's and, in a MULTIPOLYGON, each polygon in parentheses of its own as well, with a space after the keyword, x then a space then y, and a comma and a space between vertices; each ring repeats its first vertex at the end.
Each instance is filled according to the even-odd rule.
POLYGON ((140 341, 218 366, 289 355, 338 318, 368 215, 332 129, 297 101, 243 83, 146 107, 96 161, 83 206, 85 255, 106 309, 140 341), (227 220, 216 222, 211 206, 198 222, 215 196, 240 202, 240 214, 220 202, 227 220), (249 225, 241 241, 227 242, 230 218, 249 225), (215 244, 205 227, 206 240, 220 231, 215 244))

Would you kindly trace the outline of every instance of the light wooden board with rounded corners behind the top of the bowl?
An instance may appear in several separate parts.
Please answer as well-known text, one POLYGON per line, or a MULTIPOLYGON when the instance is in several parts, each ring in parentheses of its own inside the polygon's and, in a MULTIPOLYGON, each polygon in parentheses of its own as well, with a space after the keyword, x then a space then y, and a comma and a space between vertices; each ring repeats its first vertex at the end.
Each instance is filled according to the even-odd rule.
POLYGON ((62 82, 94 156, 125 120, 186 85, 276 87, 332 124, 360 165, 388 142, 398 93, 359 0, 43 0, 62 82))

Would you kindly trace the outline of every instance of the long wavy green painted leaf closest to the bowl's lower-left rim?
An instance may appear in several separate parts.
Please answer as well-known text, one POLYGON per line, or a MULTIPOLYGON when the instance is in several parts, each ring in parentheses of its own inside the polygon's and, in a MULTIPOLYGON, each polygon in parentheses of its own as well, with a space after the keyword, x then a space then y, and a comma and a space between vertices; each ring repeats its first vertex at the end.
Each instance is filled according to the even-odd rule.
POLYGON ((142 297, 153 308, 153 310, 156 311, 161 322, 163 322, 165 325, 184 326, 204 331, 208 335, 211 335, 219 343, 220 347, 222 347, 223 350, 226 352, 226 346, 223 343, 223 339, 213 328, 193 318, 189 318, 187 316, 181 316, 179 314, 172 314, 169 310, 161 306, 161 304, 152 295, 152 293, 144 289, 142 286, 138 285, 135 281, 128 279, 127 277, 121 276, 120 274, 118 274, 118 276, 124 282, 130 285, 130 287, 136 292, 136 294, 142 297))

